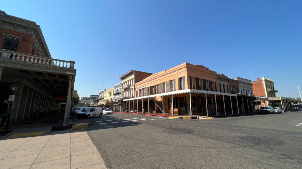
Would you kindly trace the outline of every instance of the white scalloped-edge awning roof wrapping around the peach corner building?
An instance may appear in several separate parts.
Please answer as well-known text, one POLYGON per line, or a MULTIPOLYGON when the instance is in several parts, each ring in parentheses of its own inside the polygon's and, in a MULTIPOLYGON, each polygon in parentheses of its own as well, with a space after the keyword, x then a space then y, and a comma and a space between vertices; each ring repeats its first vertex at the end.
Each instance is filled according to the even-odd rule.
POLYGON ((196 89, 186 89, 186 90, 172 91, 172 92, 161 93, 161 94, 153 94, 153 95, 142 96, 142 97, 134 97, 134 98, 130 98, 130 99, 124 99, 124 101, 140 100, 140 99, 162 97, 162 96, 169 96, 169 95, 172 95, 172 94, 175 95, 175 94, 183 94, 183 93, 209 94, 209 95, 220 95, 220 96, 234 96, 234 97, 237 97, 236 94, 230 94, 230 93, 220 93, 220 92, 216 92, 216 91, 203 91, 203 90, 196 90, 196 89))

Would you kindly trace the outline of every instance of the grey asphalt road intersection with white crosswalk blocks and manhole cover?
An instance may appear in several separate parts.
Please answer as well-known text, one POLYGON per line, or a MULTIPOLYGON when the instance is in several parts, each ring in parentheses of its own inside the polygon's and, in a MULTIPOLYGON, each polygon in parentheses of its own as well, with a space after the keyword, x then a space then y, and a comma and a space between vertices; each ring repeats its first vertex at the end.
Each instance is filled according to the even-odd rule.
POLYGON ((302 168, 302 124, 296 126, 302 112, 202 120, 153 117, 103 115, 89 119, 86 131, 112 169, 302 168))

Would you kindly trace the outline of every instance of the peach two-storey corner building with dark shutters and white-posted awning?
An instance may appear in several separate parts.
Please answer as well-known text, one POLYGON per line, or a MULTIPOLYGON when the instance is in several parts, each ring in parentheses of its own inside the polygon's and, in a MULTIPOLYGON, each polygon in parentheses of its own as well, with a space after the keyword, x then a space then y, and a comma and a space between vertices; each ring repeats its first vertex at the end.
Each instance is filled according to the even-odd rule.
POLYGON ((135 84, 131 112, 179 115, 239 113, 237 95, 218 92, 217 73, 202 65, 182 63, 135 84), (229 103, 229 104, 226 104, 229 103), (165 110, 165 111, 164 111, 165 110))

